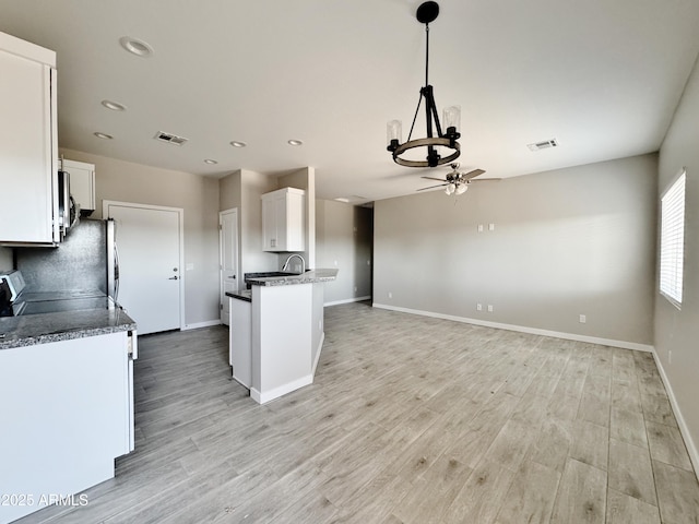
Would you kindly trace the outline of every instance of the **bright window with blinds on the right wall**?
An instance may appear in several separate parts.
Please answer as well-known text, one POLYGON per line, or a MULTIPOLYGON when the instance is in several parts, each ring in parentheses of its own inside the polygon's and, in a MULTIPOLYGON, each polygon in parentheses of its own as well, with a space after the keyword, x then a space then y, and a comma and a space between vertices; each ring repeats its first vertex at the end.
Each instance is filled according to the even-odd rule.
POLYGON ((683 168, 660 202, 660 293, 677 308, 682 305, 686 175, 683 168))

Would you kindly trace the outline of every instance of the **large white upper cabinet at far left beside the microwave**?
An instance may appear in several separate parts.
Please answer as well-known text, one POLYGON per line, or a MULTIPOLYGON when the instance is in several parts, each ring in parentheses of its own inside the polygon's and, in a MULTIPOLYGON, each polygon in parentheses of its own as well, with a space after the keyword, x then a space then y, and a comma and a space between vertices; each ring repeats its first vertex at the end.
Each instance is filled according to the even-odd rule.
POLYGON ((55 243, 56 53, 0 33, 0 242, 55 243))

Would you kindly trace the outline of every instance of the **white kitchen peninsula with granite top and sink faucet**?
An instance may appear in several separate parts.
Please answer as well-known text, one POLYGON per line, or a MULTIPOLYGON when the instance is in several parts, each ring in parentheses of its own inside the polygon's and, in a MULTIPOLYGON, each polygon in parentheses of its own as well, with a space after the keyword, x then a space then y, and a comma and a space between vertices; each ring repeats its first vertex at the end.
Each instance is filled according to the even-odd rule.
POLYGON ((248 276, 250 290, 226 294, 234 378, 249 388, 256 402, 264 404, 312 383, 324 338, 323 283, 336 275, 337 270, 312 270, 248 276), (247 355, 249 359, 236 358, 247 355), (234 362, 247 367, 246 360, 249 370, 236 369, 234 362))

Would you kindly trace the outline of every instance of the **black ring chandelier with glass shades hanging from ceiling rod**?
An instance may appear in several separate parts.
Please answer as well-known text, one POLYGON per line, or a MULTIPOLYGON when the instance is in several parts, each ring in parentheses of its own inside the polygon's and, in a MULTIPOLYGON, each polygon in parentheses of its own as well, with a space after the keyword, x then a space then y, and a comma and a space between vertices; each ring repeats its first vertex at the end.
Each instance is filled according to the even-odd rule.
MULTIPOLYGON (((429 23, 434 22, 439 14, 439 4, 437 2, 424 2, 417 8, 415 17, 422 24, 425 24, 425 35, 427 39, 427 48, 425 52, 425 87, 419 90, 419 100, 417 109, 413 117, 413 124, 407 135, 407 141, 401 143, 402 123, 400 120, 391 120, 387 127, 388 147, 387 150, 393 154, 393 162, 401 166, 407 167, 437 167, 442 164, 450 164, 459 158, 461 146, 457 140, 461 136, 458 131, 461 119, 461 109, 458 106, 447 107, 442 115, 446 131, 437 115, 437 106, 435 105, 435 95, 433 86, 429 85, 429 23), (427 136, 424 139, 413 139, 413 130, 415 121, 419 114, 419 108, 425 98, 425 118, 427 136), (404 154, 410 150, 426 148, 425 159, 411 159, 404 154), (448 150, 447 156, 440 155, 440 148, 448 150)), ((424 151, 424 150, 423 150, 424 151)))

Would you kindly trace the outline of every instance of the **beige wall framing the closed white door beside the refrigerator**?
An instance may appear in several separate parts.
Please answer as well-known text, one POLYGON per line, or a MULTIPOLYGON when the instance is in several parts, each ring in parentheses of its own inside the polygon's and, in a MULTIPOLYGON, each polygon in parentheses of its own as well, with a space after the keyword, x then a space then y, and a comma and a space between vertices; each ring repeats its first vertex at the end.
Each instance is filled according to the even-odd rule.
POLYGON ((182 207, 185 210, 186 326, 218 320, 218 180, 60 150, 69 159, 95 164, 96 210, 103 200, 182 207))

